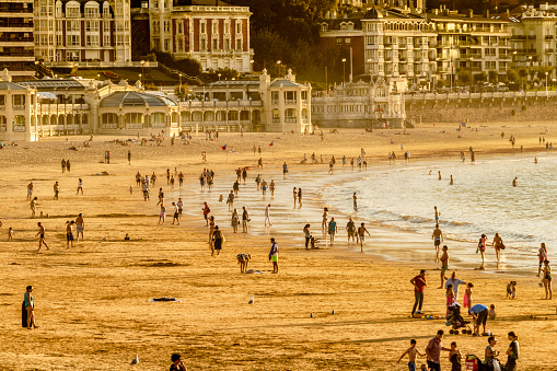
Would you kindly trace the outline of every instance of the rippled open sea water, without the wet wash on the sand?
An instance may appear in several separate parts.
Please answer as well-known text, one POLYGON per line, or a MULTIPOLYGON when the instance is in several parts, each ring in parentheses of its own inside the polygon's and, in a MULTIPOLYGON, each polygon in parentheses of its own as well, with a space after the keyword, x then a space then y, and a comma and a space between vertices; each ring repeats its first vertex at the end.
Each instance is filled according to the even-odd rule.
MULTIPOLYGON (((481 233, 492 241, 499 233, 507 246, 507 268, 536 265, 537 248, 545 242, 552 256, 557 246, 557 159, 544 154, 480 160, 397 164, 372 171, 358 181, 324 187, 323 199, 344 213, 353 213, 346 199, 358 194, 358 217, 373 224, 417 233, 430 241, 434 210, 449 246, 459 245, 455 257, 478 262, 475 251, 481 233), (431 171, 431 175, 430 175, 431 171), (438 172, 441 173, 441 181, 438 172), (450 175, 454 184, 450 185, 450 175), (518 177, 518 186, 512 181, 518 177)), ((489 251, 487 254, 492 254, 489 251)))

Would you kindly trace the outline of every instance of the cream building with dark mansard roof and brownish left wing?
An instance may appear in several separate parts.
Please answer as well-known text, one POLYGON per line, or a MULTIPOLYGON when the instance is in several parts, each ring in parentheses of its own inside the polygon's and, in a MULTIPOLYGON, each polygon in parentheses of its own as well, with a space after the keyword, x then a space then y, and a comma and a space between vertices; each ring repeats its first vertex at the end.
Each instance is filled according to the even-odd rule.
POLYGON ((417 85, 436 73, 434 25, 407 8, 371 8, 340 18, 333 13, 320 26, 322 49, 351 48, 355 76, 406 77, 417 85))

